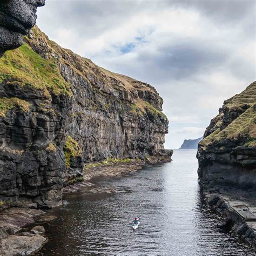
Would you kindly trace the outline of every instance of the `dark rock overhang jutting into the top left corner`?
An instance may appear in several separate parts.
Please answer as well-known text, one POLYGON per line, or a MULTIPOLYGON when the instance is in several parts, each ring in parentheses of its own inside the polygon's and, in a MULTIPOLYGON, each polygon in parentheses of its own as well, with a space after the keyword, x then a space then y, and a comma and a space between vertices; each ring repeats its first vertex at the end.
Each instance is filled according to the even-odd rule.
POLYGON ((0 2, 0 57, 10 49, 22 45, 36 23, 36 9, 45 0, 1 0, 0 2))

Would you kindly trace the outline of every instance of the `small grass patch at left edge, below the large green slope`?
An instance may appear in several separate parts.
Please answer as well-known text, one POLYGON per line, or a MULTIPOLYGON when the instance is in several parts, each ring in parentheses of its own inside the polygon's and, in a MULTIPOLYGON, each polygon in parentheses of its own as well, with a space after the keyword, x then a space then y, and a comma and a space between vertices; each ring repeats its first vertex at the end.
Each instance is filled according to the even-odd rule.
POLYGON ((31 104, 18 98, 0 98, 0 116, 5 117, 8 110, 17 107, 19 111, 29 112, 31 104))

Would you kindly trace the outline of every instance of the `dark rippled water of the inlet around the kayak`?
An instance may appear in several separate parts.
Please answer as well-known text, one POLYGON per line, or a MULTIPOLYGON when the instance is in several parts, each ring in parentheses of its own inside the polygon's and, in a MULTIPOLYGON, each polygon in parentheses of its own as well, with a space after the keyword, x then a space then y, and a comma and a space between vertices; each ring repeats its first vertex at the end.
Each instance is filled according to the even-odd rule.
POLYGON ((197 165, 195 150, 174 151, 171 163, 97 180, 116 193, 69 194, 50 212, 58 219, 45 224, 39 254, 253 254, 205 204, 197 165), (136 215, 142 225, 133 232, 136 215))

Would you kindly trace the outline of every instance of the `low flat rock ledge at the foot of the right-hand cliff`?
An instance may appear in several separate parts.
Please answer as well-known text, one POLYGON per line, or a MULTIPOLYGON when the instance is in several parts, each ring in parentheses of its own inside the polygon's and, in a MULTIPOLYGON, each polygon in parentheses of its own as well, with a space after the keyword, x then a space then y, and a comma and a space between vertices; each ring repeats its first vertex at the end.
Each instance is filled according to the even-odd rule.
POLYGON ((207 204, 225 220, 231 231, 238 234, 256 251, 256 203, 227 194, 204 191, 207 204))

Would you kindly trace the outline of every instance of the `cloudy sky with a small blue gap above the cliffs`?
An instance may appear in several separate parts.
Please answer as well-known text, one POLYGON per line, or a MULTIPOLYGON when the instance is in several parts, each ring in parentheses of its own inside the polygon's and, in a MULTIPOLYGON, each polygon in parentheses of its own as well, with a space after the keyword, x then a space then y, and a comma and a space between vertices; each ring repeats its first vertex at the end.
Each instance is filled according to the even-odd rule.
POLYGON ((255 80, 255 3, 46 0, 37 25, 60 46, 154 86, 169 119, 165 148, 178 149, 255 80))

